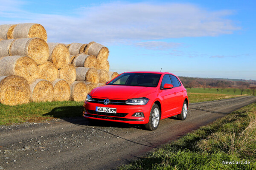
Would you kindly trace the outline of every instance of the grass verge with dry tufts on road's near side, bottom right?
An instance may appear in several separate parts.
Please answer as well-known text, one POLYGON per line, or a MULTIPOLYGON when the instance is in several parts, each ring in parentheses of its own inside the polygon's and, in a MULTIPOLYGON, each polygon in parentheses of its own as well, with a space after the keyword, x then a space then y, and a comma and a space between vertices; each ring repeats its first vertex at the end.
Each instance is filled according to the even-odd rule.
POLYGON ((119 170, 255 170, 256 103, 122 165, 119 170), (250 161, 224 164, 223 161, 250 161))

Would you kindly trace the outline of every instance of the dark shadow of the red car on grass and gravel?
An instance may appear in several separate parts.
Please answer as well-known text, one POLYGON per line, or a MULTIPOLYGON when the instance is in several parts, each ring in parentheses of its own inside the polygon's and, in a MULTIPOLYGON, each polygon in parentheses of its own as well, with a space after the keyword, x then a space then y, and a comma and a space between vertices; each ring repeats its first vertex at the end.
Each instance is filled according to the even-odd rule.
POLYGON ((88 121, 82 116, 82 106, 62 106, 53 108, 49 113, 43 114, 43 116, 50 116, 58 119, 63 119, 66 122, 70 122, 76 125, 88 125, 98 127, 118 127, 118 128, 137 128, 144 129, 143 125, 131 125, 127 123, 109 122, 109 121, 88 121))

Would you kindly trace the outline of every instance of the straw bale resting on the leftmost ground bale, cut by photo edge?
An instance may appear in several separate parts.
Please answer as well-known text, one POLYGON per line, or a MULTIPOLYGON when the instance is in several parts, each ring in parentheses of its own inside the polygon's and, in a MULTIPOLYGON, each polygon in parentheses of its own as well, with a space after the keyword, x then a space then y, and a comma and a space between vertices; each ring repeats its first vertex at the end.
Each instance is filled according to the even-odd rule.
POLYGON ((26 56, 8 56, 0 60, 0 75, 24 77, 29 83, 38 78, 38 66, 26 56))

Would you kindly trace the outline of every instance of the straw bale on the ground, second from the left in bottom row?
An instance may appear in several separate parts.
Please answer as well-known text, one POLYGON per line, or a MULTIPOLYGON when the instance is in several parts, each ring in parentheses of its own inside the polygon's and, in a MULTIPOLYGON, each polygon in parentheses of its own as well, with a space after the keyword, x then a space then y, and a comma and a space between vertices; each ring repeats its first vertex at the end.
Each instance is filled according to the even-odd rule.
POLYGON ((33 102, 51 102, 53 99, 52 83, 45 79, 36 79, 30 84, 33 102))

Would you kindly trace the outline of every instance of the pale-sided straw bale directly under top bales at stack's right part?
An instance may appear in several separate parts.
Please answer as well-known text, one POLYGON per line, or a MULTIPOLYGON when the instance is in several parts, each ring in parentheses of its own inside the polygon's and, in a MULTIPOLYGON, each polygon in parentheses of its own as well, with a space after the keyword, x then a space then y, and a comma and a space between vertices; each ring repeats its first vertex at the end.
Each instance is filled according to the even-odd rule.
POLYGON ((73 59, 72 64, 75 67, 96 68, 98 65, 98 62, 95 56, 87 55, 87 54, 79 54, 73 59))

